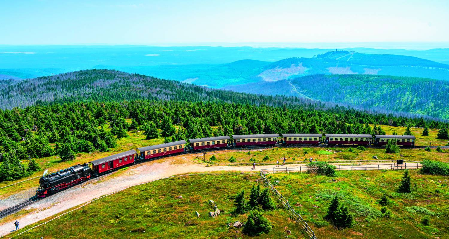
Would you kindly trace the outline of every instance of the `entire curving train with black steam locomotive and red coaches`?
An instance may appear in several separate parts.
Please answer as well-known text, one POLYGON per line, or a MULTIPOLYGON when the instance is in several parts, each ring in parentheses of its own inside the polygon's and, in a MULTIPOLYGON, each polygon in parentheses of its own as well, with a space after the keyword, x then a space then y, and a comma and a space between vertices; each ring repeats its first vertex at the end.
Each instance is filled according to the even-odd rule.
POLYGON ((233 135, 201 139, 189 139, 162 143, 136 148, 82 165, 59 170, 56 173, 44 175, 39 180, 36 195, 46 197, 68 187, 82 183, 92 177, 106 174, 125 165, 160 158, 183 152, 198 152, 211 148, 243 148, 258 145, 375 145, 383 146, 387 140, 396 140, 404 147, 414 146, 413 135, 346 135, 346 134, 264 134, 264 135, 233 135), (185 147, 188 148, 185 148, 185 147))

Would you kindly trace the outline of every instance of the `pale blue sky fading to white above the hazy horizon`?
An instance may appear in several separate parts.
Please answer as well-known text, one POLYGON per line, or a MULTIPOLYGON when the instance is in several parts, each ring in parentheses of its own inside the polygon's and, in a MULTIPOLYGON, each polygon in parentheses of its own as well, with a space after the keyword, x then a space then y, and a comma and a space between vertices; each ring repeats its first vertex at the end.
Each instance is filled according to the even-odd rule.
POLYGON ((0 44, 449 42, 448 0, 0 0, 0 44))

